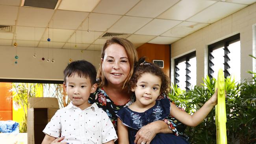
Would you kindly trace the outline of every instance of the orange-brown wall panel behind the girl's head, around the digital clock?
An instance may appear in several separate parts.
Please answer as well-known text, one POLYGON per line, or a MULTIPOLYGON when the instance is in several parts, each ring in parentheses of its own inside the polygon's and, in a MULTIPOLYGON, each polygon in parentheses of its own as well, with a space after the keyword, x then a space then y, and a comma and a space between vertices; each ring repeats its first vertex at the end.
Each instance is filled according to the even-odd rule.
POLYGON ((168 44, 150 44, 145 43, 137 48, 138 57, 146 56, 149 62, 155 60, 163 60, 163 71, 170 76, 170 46, 168 44))

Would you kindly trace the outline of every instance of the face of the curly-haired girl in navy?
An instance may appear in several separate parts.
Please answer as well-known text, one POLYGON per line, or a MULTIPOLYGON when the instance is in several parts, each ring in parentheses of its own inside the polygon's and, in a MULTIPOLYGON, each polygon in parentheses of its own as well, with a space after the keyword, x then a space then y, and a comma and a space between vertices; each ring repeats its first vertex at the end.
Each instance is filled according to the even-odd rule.
POLYGON ((154 106, 160 95, 161 78, 154 74, 145 73, 138 79, 136 86, 132 89, 136 95, 136 102, 145 106, 154 106))

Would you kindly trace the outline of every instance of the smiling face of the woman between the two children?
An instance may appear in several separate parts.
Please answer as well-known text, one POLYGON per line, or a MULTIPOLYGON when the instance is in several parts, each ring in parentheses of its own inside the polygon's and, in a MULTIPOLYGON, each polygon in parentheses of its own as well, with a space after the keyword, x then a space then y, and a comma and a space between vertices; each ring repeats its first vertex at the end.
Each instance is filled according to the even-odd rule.
POLYGON ((102 70, 108 85, 123 85, 130 72, 130 63, 125 49, 120 44, 111 44, 105 49, 102 70))

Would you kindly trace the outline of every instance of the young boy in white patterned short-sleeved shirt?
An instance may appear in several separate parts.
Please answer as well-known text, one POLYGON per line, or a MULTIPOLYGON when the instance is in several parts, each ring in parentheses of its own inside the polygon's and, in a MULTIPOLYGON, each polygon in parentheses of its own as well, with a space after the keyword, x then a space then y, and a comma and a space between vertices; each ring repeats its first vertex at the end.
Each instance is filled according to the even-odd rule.
POLYGON ((42 144, 61 140, 61 144, 114 144, 117 134, 108 115, 88 102, 97 88, 95 67, 84 60, 70 63, 64 70, 63 87, 71 102, 46 125, 42 144))

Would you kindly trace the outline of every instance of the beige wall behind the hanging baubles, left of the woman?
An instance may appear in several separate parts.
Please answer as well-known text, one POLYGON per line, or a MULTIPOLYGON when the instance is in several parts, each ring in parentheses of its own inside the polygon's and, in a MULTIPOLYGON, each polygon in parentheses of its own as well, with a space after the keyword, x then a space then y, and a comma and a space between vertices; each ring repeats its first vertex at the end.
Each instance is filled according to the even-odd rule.
MULTIPOLYGON (((4 79, 42 79, 63 80, 63 70, 72 60, 85 59, 91 62, 96 69, 100 64, 100 51, 53 49, 55 63, 46 62, 47 48, 36 48, 37 57, 33 57, 34 48, 17 47, 19 56, 15 64, 16 49, 13 46, 0 46, 0 78, 4 79), (44 49, 44 51, 43 51, 44 49), (45 61, 41 58, 45 57, 45 61)), ((49 58, 52 60, 52 49, 49 49, 49 58)))

